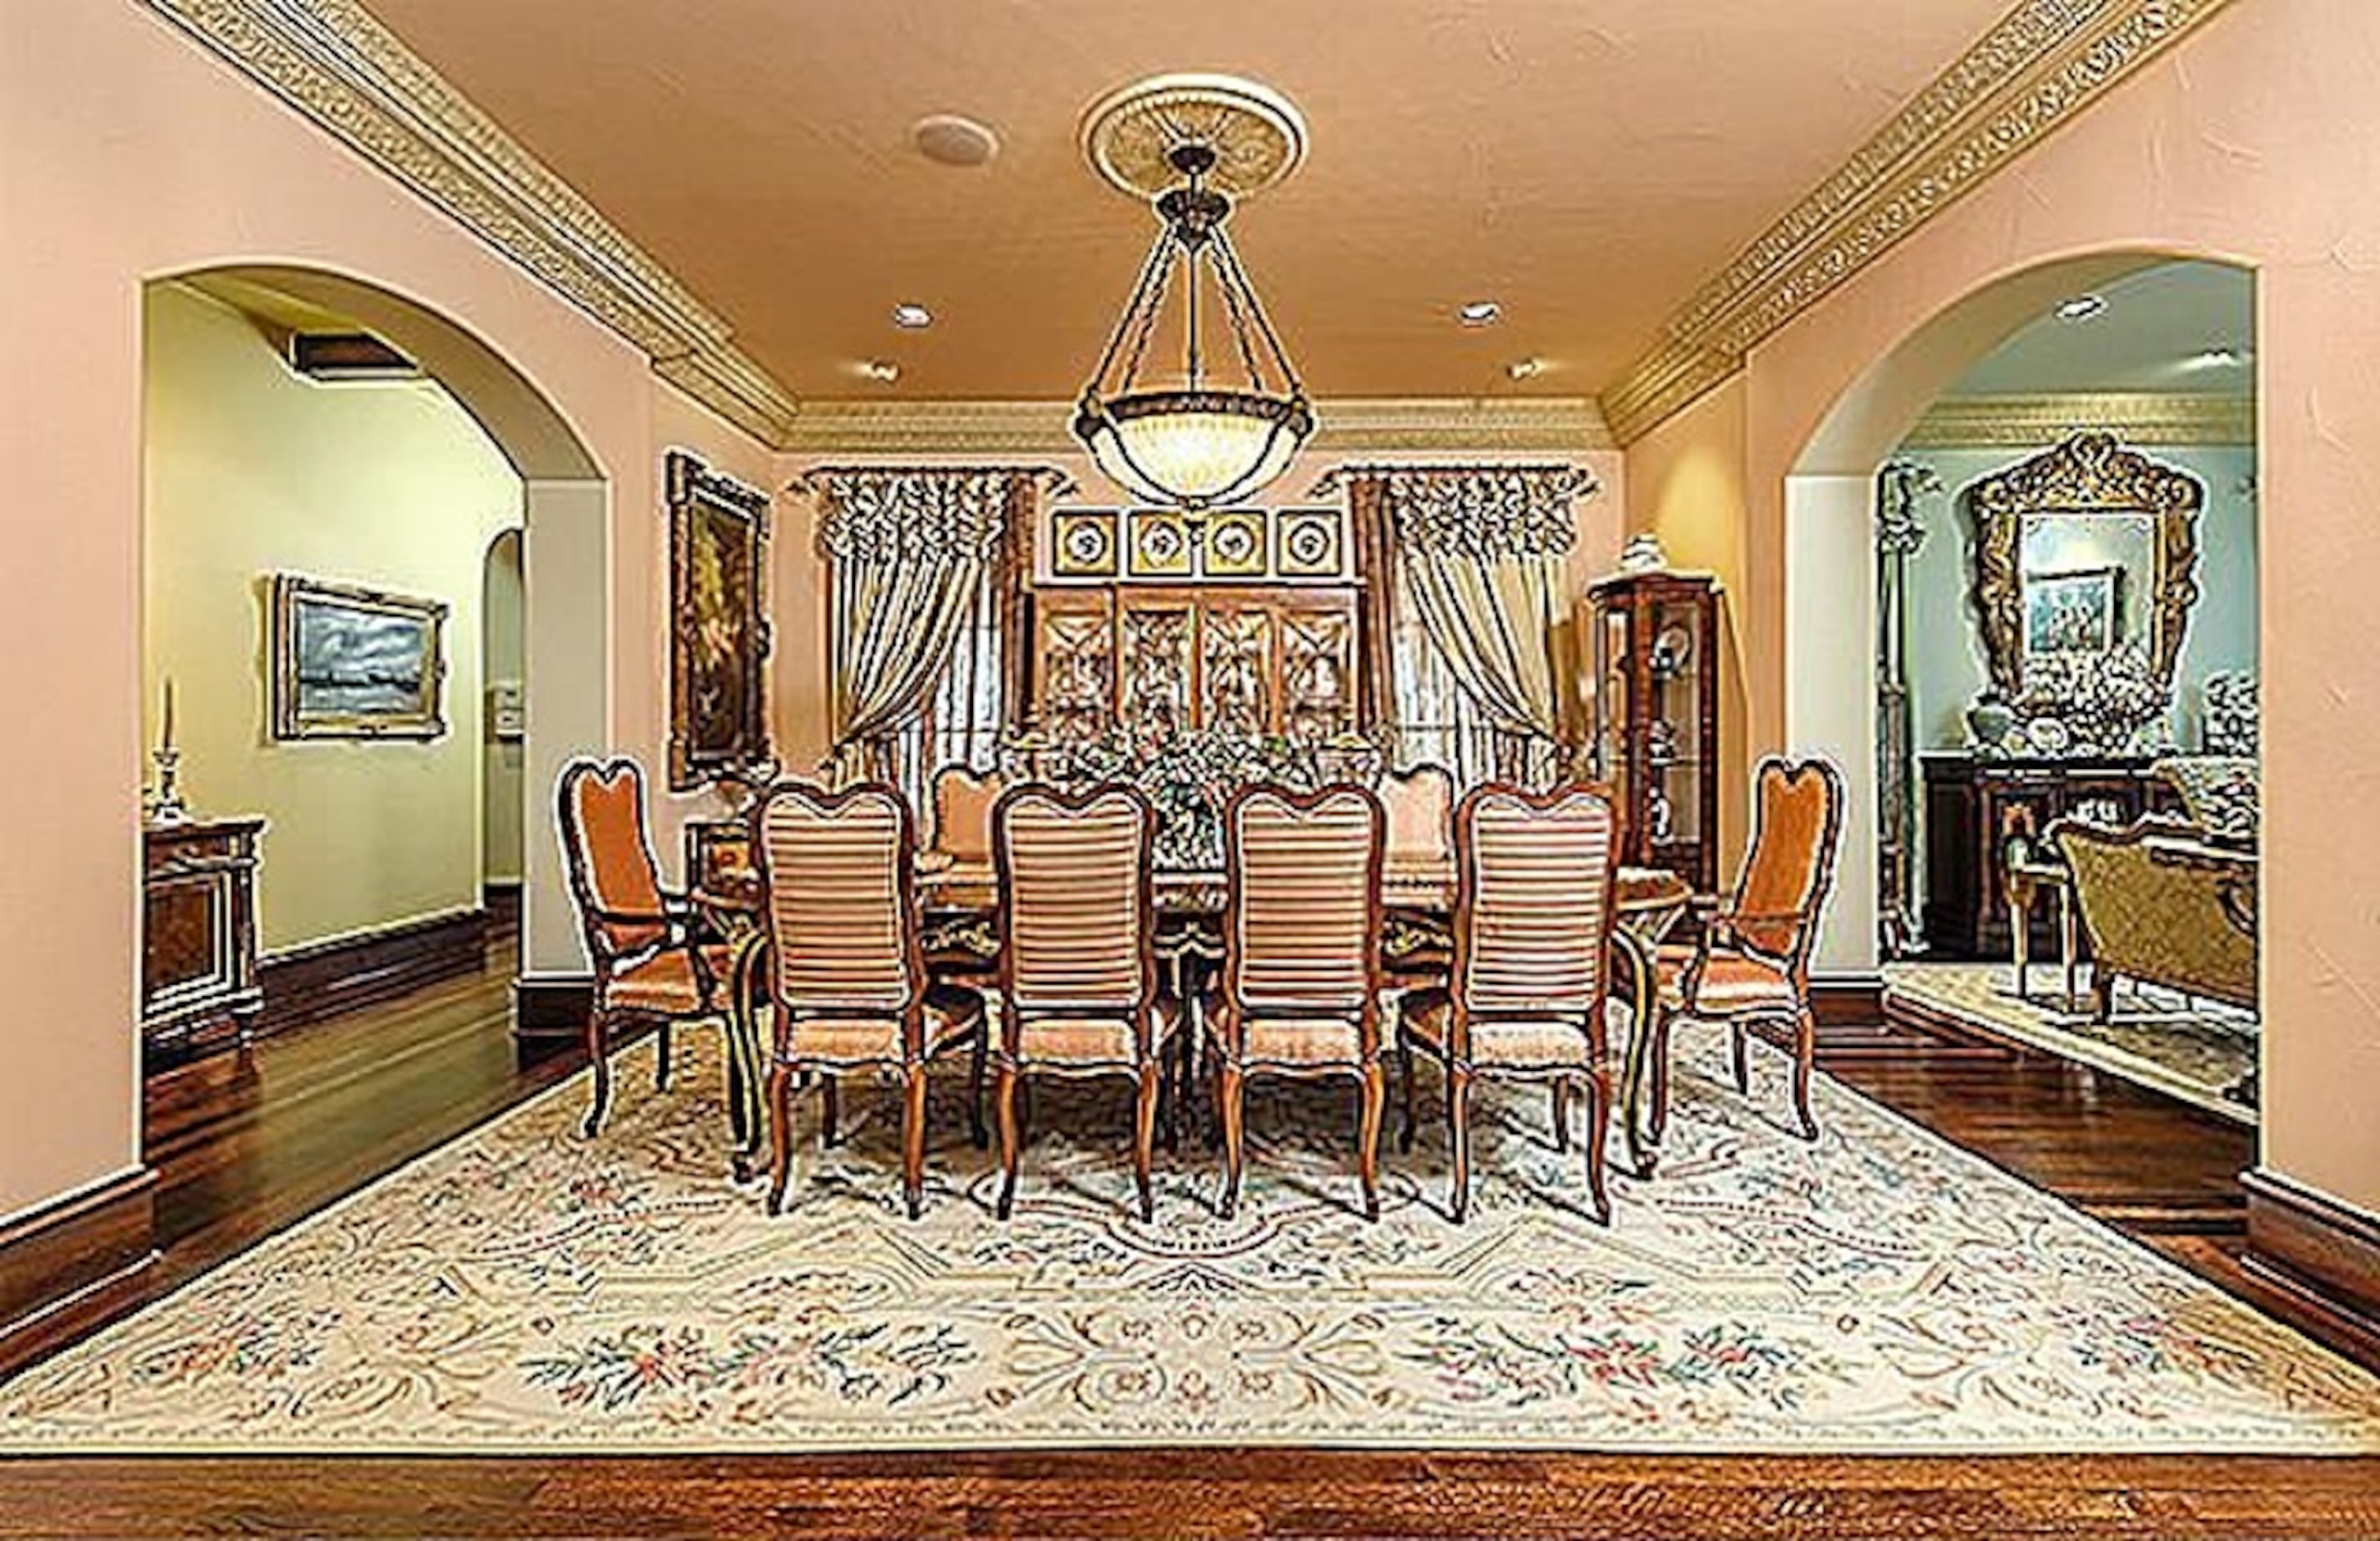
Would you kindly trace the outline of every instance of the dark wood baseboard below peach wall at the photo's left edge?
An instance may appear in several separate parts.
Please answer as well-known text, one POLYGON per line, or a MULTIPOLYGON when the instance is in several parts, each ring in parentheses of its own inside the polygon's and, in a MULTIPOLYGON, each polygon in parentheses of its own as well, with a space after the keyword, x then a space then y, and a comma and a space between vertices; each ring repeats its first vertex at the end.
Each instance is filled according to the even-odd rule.
POLYGON ((0 1227, 0 1377, 140 1300, 157 1172, 136 1167, 0 1227))

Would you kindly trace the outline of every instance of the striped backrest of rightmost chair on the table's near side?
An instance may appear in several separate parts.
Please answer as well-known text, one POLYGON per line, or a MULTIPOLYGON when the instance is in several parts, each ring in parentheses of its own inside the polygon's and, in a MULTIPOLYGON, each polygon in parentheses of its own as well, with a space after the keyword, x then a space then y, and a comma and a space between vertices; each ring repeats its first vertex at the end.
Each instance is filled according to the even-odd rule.
POLYGON ((1602 1031, 1618 807, 1602 786, 1490 781, 1454 810, 1457 1017, 1583 1017, 1602 1031))

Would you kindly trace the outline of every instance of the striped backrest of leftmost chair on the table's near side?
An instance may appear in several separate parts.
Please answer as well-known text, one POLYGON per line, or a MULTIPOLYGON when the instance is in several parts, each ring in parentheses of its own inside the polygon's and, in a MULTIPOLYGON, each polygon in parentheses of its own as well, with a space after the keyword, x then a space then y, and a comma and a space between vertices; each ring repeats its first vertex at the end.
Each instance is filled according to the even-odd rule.
POLYGON ((909 803, 883 781, 840 791, 781 781, 754 824, 778 1010, 916 1017, 926 962, 909 803))

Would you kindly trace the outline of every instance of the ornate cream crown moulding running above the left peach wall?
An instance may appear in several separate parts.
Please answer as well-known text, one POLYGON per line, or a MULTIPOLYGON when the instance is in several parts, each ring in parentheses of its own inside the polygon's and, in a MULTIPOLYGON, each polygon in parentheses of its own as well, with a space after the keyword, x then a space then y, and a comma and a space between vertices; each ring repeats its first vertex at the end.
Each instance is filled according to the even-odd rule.
POLYGON ((793 395, 733 329, 357 0, 143 0, 367 162, 633 343, 735 426, 781 443, 793 395))

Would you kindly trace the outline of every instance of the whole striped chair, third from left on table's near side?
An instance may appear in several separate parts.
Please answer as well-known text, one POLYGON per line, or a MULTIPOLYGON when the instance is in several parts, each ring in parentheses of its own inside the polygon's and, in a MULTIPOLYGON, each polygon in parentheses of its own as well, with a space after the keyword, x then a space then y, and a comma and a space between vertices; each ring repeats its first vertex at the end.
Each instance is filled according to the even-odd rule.
POLYGON ((1357 1172, 1380 1217, 1380 800, 1361 786, 1247 786, 1223 810, 1223 993, 1216 1105, 1223 1215, 1240 1203, 1247 1077, 1352 1077, 1357 1172))

